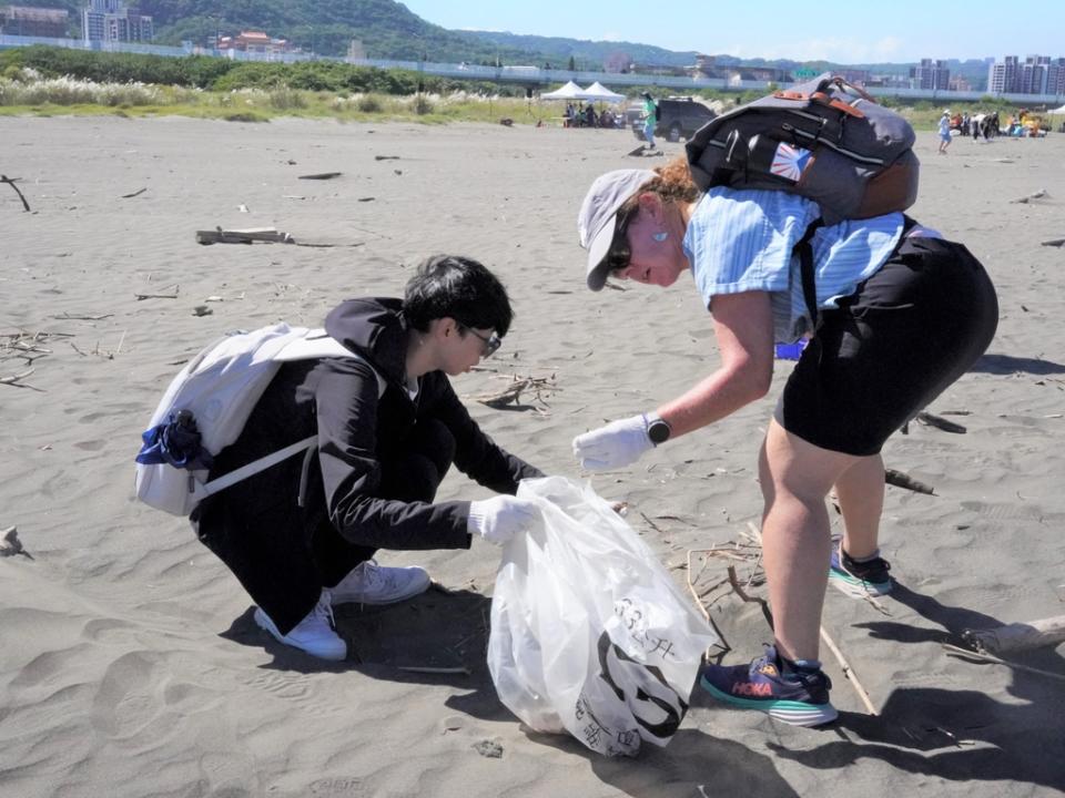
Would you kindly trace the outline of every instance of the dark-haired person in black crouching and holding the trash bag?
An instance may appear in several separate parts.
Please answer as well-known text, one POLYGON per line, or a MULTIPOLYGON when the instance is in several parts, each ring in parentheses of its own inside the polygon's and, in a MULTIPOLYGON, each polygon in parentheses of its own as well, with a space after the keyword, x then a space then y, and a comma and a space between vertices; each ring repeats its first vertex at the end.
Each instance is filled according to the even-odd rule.
POLYGON ((499 348, 511 309, 476 260, 423 263, 403 299, 349 299, 326 331, 357 357, 282 366, 210 479, 317 433, 316 449, 205 499, 200 540, 258 605, 255 623, 285 645, 343 659, 335 604, 389 604, 422 593, 420 567, 385 567, 378 549, 503 543, 535 508, 513 495, 539 470, 504 451, 469 417, 448 377, 499 348), (504 494, 434 503, 452 466, 504 494))

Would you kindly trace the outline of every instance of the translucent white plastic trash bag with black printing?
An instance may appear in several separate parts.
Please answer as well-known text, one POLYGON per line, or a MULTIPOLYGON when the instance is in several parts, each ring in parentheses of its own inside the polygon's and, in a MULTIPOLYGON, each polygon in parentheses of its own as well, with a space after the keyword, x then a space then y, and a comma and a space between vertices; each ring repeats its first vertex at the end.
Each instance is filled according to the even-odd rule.
POLYGON ((504 546, 496 575, 488 668, 500 700, 607 756, 667 745, 717 635, 590 485, 524 480, 518 498, 544 522, 504 546))

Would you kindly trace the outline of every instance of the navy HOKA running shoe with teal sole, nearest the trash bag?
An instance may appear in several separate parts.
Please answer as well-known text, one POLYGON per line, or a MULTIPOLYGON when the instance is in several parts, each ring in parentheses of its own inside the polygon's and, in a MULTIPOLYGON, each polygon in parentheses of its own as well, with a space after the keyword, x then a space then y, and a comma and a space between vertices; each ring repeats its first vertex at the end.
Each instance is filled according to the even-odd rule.
POLYGON ((782 672, 775 646, 750 665, 707 665, 700 686, 718 700, 743 709, 758 709, 792 726, 820 726, 839 713, 829 703, 832 682, 818 669, 797 667, 782 672))

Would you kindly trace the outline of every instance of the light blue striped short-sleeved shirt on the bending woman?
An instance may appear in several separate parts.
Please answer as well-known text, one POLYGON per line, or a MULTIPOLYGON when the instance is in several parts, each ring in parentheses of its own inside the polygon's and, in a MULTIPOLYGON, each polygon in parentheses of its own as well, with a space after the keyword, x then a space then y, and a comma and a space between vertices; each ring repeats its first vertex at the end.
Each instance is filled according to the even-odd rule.
MULTIPOLYGON (((791 256, 816 203, 778 191, 711 188, 684 233, 684 255, 706 306, 719 294, 769 291, 778 341, 811 330, 799 258, 791 256)), ((818 307, 832 308, 889 258, 902 235, 901 213, 841 222, 814 236, 818 307)))

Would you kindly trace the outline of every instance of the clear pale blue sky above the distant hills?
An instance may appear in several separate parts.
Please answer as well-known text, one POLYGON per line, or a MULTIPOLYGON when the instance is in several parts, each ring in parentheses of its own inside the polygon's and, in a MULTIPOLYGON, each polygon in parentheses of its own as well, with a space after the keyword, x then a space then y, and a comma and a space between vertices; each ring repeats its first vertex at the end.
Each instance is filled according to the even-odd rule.
POLYGON ((450 29, 631 41, 739 58, 871 63, 1065 57, 1062 0, 403 2, 425 21, 450 29))

